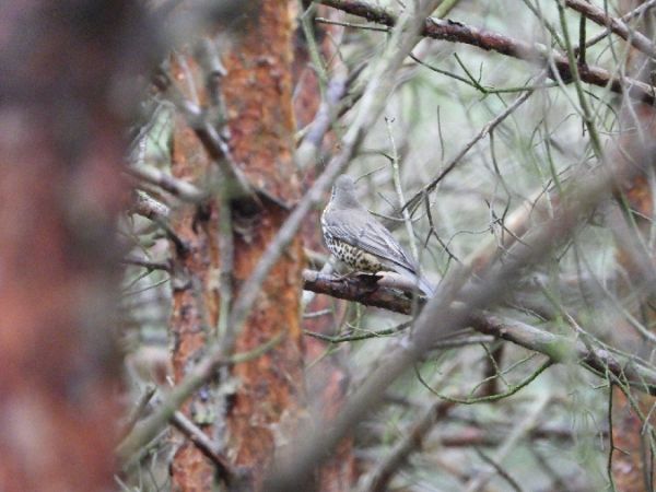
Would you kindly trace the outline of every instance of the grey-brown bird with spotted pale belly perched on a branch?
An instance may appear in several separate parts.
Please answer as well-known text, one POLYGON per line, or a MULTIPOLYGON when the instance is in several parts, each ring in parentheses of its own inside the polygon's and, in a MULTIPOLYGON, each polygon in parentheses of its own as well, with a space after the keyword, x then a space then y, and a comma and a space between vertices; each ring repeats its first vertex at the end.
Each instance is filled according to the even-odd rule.
POLYGON ((321 213, 324 241, 330 253, 348 267, 366 272, 395 271, 426 296, 435 288, 391 233, 358 200, 355 180, 340 175, 321 213))

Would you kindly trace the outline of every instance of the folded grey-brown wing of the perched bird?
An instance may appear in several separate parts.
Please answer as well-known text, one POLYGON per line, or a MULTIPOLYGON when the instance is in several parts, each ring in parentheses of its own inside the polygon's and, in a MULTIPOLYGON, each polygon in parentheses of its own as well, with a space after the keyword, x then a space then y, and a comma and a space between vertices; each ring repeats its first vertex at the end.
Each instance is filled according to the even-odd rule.
POLYGON ((363 212, 366 213, 336 211, 324 226, 329 234, 341 241, 415 273, 417 266, 398 241, 383 224, 370 215, 368 211, 363 210, 363 212))

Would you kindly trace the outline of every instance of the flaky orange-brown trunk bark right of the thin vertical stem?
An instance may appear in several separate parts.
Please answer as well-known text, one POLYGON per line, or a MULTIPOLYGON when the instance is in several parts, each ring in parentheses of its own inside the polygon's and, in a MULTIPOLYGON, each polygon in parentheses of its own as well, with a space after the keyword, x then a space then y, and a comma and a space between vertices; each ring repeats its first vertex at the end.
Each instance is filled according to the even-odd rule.
MULTIPOLYGON (((292 163, 292 19, 290 2, 265 0, 244 26, 241 44, 224 58, 222 81, 230 145, 250 183, 281 201, 298 197, 292 163)), ((288 215, 278 204, 245 216, 235 210, 235 289, 250 276, 288 215)), ((227 414, 231 458, 248 470, 253 489, 267 464, 284 452, 304 400, 300 296, 301 237, 286 248, 261 286, 255 309, 238 336, 236 351, 261 345, 281 331, 282 342, 262 356, 233 367, 237 390, 227 414)))

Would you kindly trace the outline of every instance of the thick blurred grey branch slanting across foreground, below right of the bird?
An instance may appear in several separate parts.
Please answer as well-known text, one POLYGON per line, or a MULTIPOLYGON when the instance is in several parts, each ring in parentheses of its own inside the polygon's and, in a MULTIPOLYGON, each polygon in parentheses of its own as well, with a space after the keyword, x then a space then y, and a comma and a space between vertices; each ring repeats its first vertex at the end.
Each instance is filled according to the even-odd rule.
MULTIPOLYGON (((628 175, 637 172, 621 162, 614 164, 619 168, 613 171, 617 173, 621 169, 623 178, 628 179, 628 175)), ((353 393, 335 420, 329 424, 317 423, 313 434, 304 435, 303 440, 296 443, 291 458, 285 457, 284 464, 274 464, 268 490, 303 490, 312 471, 330 455, 343 436, 361 422, 367 412, 377 408, 385 388, 420 360, 436 338, 465 327, 472 312, 493 305, 507 296, 513 288, 517 288, 516 281, 519 276, 525 274, 527 267, 535 265, 570 237, 582 218, 587 216, 610 192, 617 177, 609 172, 611 168, 610 165, 606 166, 604 169, 607 172, 598 173, 584 184, 577 184, 578 186, 571 190, 576 199, 565 200, 551 219, 536 227, 528 237, 524 237, 527 246, 516 244, 505 261, 496 262, 481 272, 465 297, 462 286, 470 280, 471 267, 452 269, 442 281, 437 295, 431 298, 419 314, 411 337, 386 354, 385 364, 367 376, 366 382, 353 393), (452 308, 452 303, 458 297, 467 301, 465 312, 452 308)), ((571 343, 567 347, 571 347, 571 343)), ((522 427, 518 430, 524 432, 522 427)))

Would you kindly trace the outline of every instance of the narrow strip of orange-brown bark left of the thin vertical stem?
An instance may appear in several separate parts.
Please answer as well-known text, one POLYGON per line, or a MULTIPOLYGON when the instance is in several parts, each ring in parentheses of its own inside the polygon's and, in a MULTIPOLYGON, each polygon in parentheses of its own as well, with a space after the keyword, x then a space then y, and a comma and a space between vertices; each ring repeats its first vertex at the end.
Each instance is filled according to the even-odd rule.
MULTIPOLYGON (((206 106, 202 72, 192 57, 178 55, 172 60, 175 84, 195 104, 206 106), (190 87, 195 87, 190 91, 190 87), (194 94, 194 95, 192 95, 194 94), (198 97, 199 101, 195 101, 198 97)), ((191 183, 202 183, 213 165, 208 152, 185 118, 177 115, 172 142, 172 174, 191 183)), ((187 370, 198 362, 209 340, 215 335, 219 318, 218 209, 215 200, 186 204, 172 220, 174 233, 186 249, 172 245, 173 313, 171 320, 172 365, 174 380, 179 383, 187 370)), ((203 432, 213 437, 213 422, 219 408, 208 384, 184 406, 183 412, 203 432)), ((179 443, 171 465, 174 491, 211 490, 214 469, 203 454, 188 440, 179 443)))

